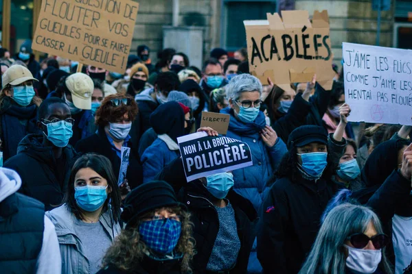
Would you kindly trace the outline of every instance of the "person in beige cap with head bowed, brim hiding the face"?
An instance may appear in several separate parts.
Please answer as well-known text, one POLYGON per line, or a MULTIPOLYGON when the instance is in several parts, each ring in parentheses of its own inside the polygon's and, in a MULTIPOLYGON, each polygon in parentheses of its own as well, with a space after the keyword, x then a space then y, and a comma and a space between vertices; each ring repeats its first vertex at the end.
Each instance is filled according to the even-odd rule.
POLYGON ((82 129, 79 127, 82 116, 85 110, 91 110, 93 80, 84 73, 74 73, 69 75, 65 81, 60 82, 58 89, 62 90, 62 99, 69 105, 71 116, 74 119, 73 137, 70 139, 70 145, 75 147, 78 140, 82 138, 82 129))

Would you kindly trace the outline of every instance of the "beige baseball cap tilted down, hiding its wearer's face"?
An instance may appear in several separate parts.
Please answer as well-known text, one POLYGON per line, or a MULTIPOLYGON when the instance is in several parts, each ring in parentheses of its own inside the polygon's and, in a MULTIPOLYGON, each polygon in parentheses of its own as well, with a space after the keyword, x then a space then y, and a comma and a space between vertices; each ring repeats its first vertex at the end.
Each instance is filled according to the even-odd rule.
POLYGON ((71 92, 71 99, 76 108, 91 110, 91 95, 94 84, 89 75, 74 73, 67 77, 66 86, 71 92))

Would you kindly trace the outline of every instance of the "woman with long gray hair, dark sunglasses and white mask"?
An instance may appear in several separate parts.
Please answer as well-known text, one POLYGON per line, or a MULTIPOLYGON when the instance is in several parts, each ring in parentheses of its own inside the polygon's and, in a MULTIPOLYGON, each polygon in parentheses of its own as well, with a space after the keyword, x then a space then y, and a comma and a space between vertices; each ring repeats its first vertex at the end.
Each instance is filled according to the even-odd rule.
POLYGON ((299 274, 392 274, 385 256, 388 242, 372 210, 343 203, 325 217, 299 274))

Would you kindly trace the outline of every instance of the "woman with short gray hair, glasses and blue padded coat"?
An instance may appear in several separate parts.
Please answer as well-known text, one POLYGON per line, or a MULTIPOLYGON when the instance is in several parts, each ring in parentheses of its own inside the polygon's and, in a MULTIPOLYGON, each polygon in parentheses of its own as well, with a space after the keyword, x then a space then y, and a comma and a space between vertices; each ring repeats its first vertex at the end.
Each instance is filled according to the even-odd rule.
POLYGON ((253 166, 233 171, 234 189, 258 211, 268 192, 266 182, 286 153, 286 145, 266 125, 265 115, 259 110, 262 84, 258 78, 241 74, 233 77, 225 89, 229 108, 220 112, 231 116, 227 136, 247 142, 253 155, 253 166))

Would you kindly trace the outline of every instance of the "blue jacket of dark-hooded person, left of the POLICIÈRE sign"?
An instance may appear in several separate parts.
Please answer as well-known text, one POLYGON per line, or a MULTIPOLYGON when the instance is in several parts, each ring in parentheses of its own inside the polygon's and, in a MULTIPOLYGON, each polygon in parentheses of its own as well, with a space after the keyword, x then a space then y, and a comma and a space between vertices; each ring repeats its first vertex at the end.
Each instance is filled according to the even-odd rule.
POLYGON ((162 171, 166 164, 172 162, 172 160, 180 155, 176 142, 167 135, 165 138, 165 135, 166 134, 163 134, 163 136, 159 135, 155 142, 141 155, 143 183, 155 179, 155 176, 162 171))

